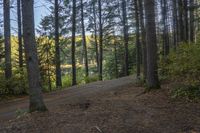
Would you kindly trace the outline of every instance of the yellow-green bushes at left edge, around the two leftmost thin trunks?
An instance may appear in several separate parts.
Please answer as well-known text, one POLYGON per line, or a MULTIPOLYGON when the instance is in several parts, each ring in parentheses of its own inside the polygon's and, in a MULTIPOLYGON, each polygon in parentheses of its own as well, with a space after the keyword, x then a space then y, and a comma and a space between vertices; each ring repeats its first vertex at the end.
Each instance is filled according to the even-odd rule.
POLYGON ((11 79, 5 79, 4 40, 0 35, 0 96, 24 95, 28 93, 27 73, 18 67, 18 43, 17 38, 11 37, 13 75, 11 79))

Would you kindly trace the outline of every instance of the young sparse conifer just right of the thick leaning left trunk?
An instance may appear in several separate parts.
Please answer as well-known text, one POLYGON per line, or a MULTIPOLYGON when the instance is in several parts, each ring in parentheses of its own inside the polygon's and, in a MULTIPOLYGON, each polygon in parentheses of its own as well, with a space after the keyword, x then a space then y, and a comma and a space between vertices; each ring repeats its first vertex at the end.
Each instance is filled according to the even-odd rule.
POLYGON ((51 91, 55 88, 52 87, 53 82, 55 82, 54 41, 50 37, 41 36, 37 38, 37 44, 43 91, 51 91))

